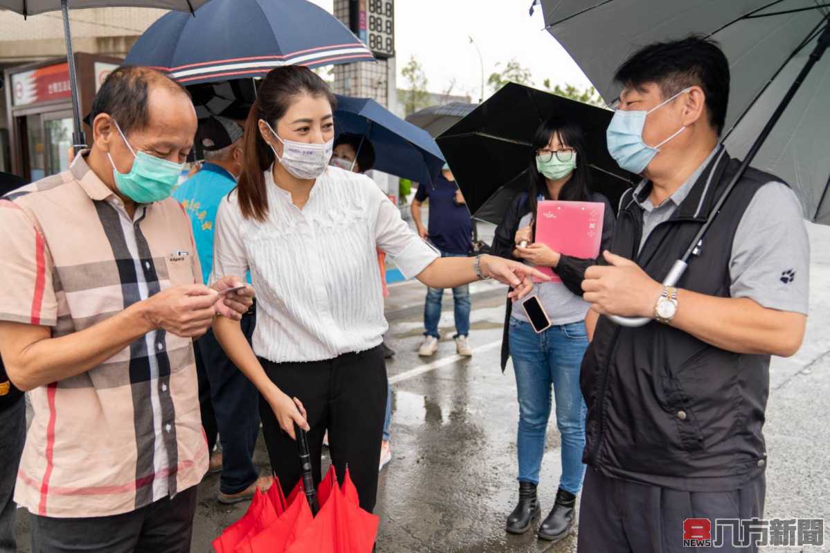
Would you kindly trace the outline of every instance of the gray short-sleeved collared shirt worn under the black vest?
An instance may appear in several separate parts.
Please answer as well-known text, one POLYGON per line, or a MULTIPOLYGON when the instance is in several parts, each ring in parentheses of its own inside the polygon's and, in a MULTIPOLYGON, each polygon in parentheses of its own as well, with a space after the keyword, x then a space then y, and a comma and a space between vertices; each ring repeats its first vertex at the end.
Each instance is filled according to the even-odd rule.
MULTIPOLYGON (((659 206, 649 199, 639 204, 643 209, 641 250, 652 230, 686 199, 714 154, 659 206)), ((637 193, 645 184, 641 182, 637 187, 633 201, 637 201, 637 193)), ((783 182, 767 182, 755 193, 735 230, 730 257, 731 297, 751 298, 764 308, 806 315, 809 267, 810 242, 798 196, 783 182)))

